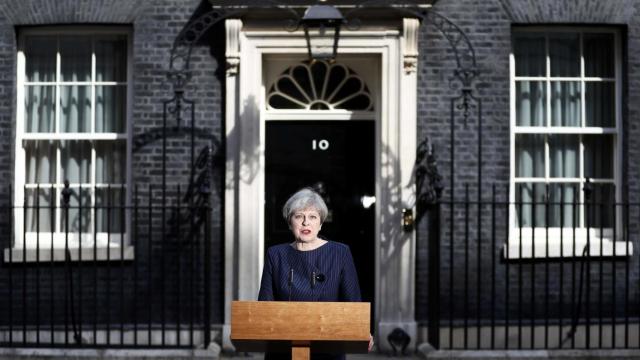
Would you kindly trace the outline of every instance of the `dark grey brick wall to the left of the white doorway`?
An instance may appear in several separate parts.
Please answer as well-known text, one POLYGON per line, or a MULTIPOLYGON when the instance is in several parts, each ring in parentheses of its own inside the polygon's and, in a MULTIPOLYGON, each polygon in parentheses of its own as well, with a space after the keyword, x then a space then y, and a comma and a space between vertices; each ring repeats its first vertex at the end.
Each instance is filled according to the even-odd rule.
MULTIPOLYGON (((145 138, 148 134, 157 133, 163 124, 163 101, 169 101, 173 98, 174 93, 171 84, 167 80, 166 71, 168 70, 169 55, 171 46, 177 34, 182 30, 185 24, 193 17, 207 10, 206 2, 200 0, 153 0, 153 1, 136 1, 136 0, 61 0, 61 1, 19 1, 8 0, 0 3, 0 176, 5 179, 13 178, 14 171, 14 137, 15 137, 15 53, 16 53, 16 35, 21 26, 41 26, 50 25, 64 26, 74 25, 99 25, 99 24, 118 24, 128 25, 133 28, 133 94, 132 94, 132 116, 130 119, 133 139, 145 138)), ((224 33, 220 33, 220 28, 211 30, 215 33, 215 38, 211 35, 207 39, 201 41, 194 46, 191 57, 192 79, 190 85, 185 89, 184 96, 187 100, 193 101, 195 104, 195 121, 197 131, 196 150, 199 151, 203 146, 213 142, 214 156, 216 163, 213 173, 213 192, 212 192, 212 276, 210 286, 212 294, 214 323, 220 323, 223 319, 222 313, 222 296, 223 296, 223 268, 224 253, 223 234, 222 234, 222 215, 221 203, 223 196, 223 174, 224 163, 221 162, 220 156, 224 154, 224 148, 221 143, 222 134, 222 93, 223 93, 223 77, 221 76, 224 67, 218 68, 218 64, 224 64, 224 33), (222 50, 221 50, 222 49, 222 50)), ((171 103, 167 103, 171 105, 171 103)), ((185 116, 185 120, 181 122, 182 127, 189 126, 190 114, 185 116)), ((168 117, 169 126, 175 126, 175 118, 168 117)), ((143 146, 132 144, 134 151, 132 156, 132 178, 133 184, 140 185, 141 194, 147 194, 149 187, 160 189, 162 185, 162 141, 160 139, 145 143, 143 146)), ((166 184, 172 189, 168 196, 173 198, 176 194, 175 190, 178 184, 181 185, 181 192, 184 194, 186 185, 190 181, 190 137, 188 132, 180 132, 179 135, 170 136, 166 144, 167 161, 166 161, 166 184)), ((197 155, 197 152, 196 152, 197 155)), ((222 155, 223 156, 223 155, 222 155)), ((9 182, 7 182, 8 185, 9 182)), ((0 206, 10 204, 7 189, 0 192, 0 206)), ((154 202, 160 201, 159 194, 154 193, 154 202)), ((146 200, 142 200, 141 204, 146 204, 146 200)), ((170 212, 170 211, 169 211, 170 212)), ((3 233, 11 233, 11 216, 2 216, 0 220, 0 229, 3 233)), ((146 216, 144 210, 141 210, 141 216, 146 216)), ((170 214, 166 215, 169 218, 170 214)), ((118 296, 110 299, 111 314, 110 318, 118 319, 120 316, 119 301, 130 301, 134 296, 133 289, 133 272, 136 263, 141 264, 138 271, 139 279, 146 277, 147 266, 149 260, 156 269, 160 268, 161 260, 166 261, 165 267, 168 277, 167 283, 162 284, 160 279, 152 279, 155 287, 154 296, 151 300, 142 300, 138 298, 139 306, 144 310, 145 302, 151 301, 155 306, 159 306, 159 292, 164 287, 166 293, 167 314, 169 317, 175 318, 180 311, 177 309, 178 299, 176 294, 188 294, 185 287, 189 284, 178 285, 178 270, 185 273, 189 270, 190 264, 190 246, 181 245, 171 242, 168 238, 162 237, 160 230, 162 229, 161 216, 155 215, 153 223, 150 227, 153 232, 151 235, 144 231, 140 231, 138 238, 135 240, 137 260, 133 263, 125 263, 124 266, 109 269, 106 264, 98 264, 94 267, 97 273, 91 275, 90 271, 86 272, 84 277, 78 281, 79 284, 85 284, 86 289, 91 289, 92 281, 100 279, 102 283, 109 283, 112 290, 118 286, 118 279, 122 276, 125 280, 124 299, 118 296), (164 240, 163 240, 164 239, 164 240), (146 251, 148 241, 151 241, 151 253, 146 251), (166 243, 163 243, 166 241, 166 243), (163 250, 164 249, 164 250, 163 250), (181 250, 182 249, 182 250, 181 250), (187 249, 187 250, 185 250, 187 249), (144 251, 143 251, 144 250, 144 251), (182 254, 178 256, 177 254, 182 254), (178 260, 181 259, 181 260, 178 260), (179 265, 180 264, 180 265, 179 265), (180 266, 178 268, 178 266, 180 266), (174 275, 172 278, 171 275, 174 275), (107 280, 111 279, 111 280, 107 280)), ((188 225, 188 224, 187 224, 188 225)), ((185 227, 187 226, 185 225, 185 227)), ((139 229, 146 229, 147 224, 141 222, 139 229)), ((166 230, 169 232, 169 230, 166 230)), ((184 231, 184 229, 182 230, 184 231)), ((0 238, 0 248, 9 247, 12 239, 9 237, 0 238)), ((201 246, 201 245, 200 245, 201 246)), ((196 248, 196 257, 202 255, 202 248, 196 248)), ((196 266, 199 267, 201 273, 202 261, 197 261, 196 266)), ((27 266, 24 271, 16 271, 15 267, 11 267, 6 263, 0 263, 0 307, 9 309, 7 304, 8 296, 8 273, 12 272, 13 285, 15 289, 20 289, 19 285, 23 277, 26 277, 29 283, 36 281, 38 273, 47 274, 49 277, 42 275, 40 279, 43 284, 48 284, 49 279, 53 279, 56 284, 54 292, 63 291, 65 284, 64 268, 55 266, 51 272, 45 272, 38 269, 37 266, 27 266), (13 270, 10 270, 13 269, 13 270)), ((84 274, 84 273, 83 273, 84 274)), ((196 278, 196 291, 202 294, 204 284, 202 276, 196 278)), ((80 286, 83 287, 83 286, 80 286)), ((43 289, 46 286, 42 287, 43 289)), ((47 290, 48 291, 48 290, 47 290)), ((40 294, 42 301, 46 301, 47 291, 40 294)), ((118 289, 119 291, 119 289, 118 289)), ((146 289, 139 289, 146 292, 146 289)), ((29 287, 32 292, 32 287, 29 287)), ((15 294, 14 294, 15 295, 15 294)), ((25 294, 26 295, 26 294, 25 294)), ((30 294, 28 308, 33 308, 34 294, 30 294)), ((61 298, 61 296, 58 296, 61 298)), ((103 301, 108 301, 105 296, 99 294, 99 305, 108 306, 103 301)), ((17 298, 16 298, 17 299, 17 298)), ((85 316, 90 314, 89 309, 93 309, 94 300, 92 296, 84 294, 84 304, 77 305, 83 307, 85 316)), ((62 301, 62 300, 61 300, 62 301)), ((182 306, 187 301, 187 296, 182 298, 182 306)), ((152 306, 154 306, 152 305, 152 306)), ((16 300, 13 304, 13 311, 16 316, 20 316, 21 302, 16 300)), ((56 303, 54 312, 62 314, 64 308, 63 303, 56 303), (57 310, 56 310, 57 309, 57 310)), ((157 307, 156 307, 157 309, 157 307)), ((3 312, 5 311, 3 310, 3 312)), ((125 312, 132 311, 129 307, 125 312)), ((198 305, 195 307, 196 316, 200 316, 202 309, 198 305), (200 314, 200 315, 199 315, 200 314)), ((48 308, 42 308, 42 317, 48 318, 48 308)), ((144 313, 144 312, 141 312, 144 313)), ((0 315, 0 322, 6 321, 6 314, 0 315)), ((29 315, 31 316, 31 315, 29 315)), ((104 316, 101 315, 101 316, 104 316)), ((188 319, 187 314, 183 312, 182 322, 188 319)), ((104 319, 102 319, 104 320, 104 319)), ((156 319, 157 320, 157 319, 156 319)), ((154 320, 154 321, 156 321, 154 320)))

